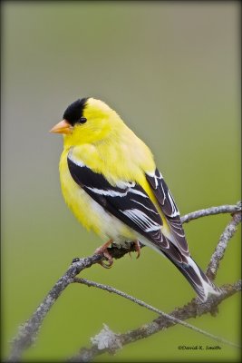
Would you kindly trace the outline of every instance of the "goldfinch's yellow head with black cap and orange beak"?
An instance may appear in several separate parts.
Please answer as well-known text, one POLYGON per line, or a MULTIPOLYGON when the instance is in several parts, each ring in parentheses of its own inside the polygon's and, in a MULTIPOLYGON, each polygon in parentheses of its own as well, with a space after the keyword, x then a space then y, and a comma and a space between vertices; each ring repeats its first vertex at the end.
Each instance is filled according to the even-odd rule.
POLYGON ((117 113, 100 100, 82 98, 71 103, 63 113, 63 121, 51 132, 63 133, 68 146, 105 140, 121 124, 117 113))

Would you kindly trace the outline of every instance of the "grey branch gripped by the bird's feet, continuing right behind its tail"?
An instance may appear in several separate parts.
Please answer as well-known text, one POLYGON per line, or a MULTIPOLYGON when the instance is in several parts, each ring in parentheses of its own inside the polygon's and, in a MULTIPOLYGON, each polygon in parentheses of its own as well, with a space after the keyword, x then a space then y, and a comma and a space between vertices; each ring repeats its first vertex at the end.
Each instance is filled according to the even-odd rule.
MULTIPOLYGON (((237 203, 237 205, 226 205, 226 206, 208 208, 207 210, 195 211, 182 217, 181 221, 188 222, 197 219, 199 217, 211 214, 235 213, 237 211, 241 211, 241 202, 237 203)), ((133 250, 135 250, 134 244, 131 245, 130 249, 124 249, 124 248, 118 249, 116 247, 111 247, 109 249, 109 252, 111 253, 111 256, 113 258, 120 259, 123 255, 133 250)), ((82 259, 79 258, 73 259, 73 263, 71 264, 69 269, 54 284, 53 289, 49 291, 47 296, 44 298, 43 302, 34 311, 32 317, 27 321, 25 321, 24 324, 19 327, 18 333, 12 342, 12 350, 9 357, 9 361, 20 360, 24 350, 33 345, 38 335, 38 331, 41 328, 44 317, 50 311, 56 299, 58 299, 59 296, 62 294, 63 290, 66 289, 66 287, 70 283, 73 283, 74 281, 73 279, 82 270, 90 268, 93 264, 100 262, 102 259, 105 259, 103 255, 95 255, 95 254, 90 257, 82 259)), ((174 323, 172 322, 172 324, 174 323)))

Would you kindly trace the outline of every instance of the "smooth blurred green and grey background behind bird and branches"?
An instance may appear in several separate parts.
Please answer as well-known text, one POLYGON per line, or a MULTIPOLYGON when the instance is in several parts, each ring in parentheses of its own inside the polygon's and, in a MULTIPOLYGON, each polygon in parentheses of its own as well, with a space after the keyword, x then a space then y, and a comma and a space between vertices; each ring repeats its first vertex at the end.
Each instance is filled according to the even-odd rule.
MULTIPOLYGON (((9 352, 73 257, 101 240, 84 231, 63 202, 59 135, 49 133, 78 97, 110 104, 155 154, 181 214, 240 198, 240 67, 237 2, 10 2, 2 4, 2 343, 9 352)), ((202 269, 229 216, 185 225, 202 269)), ((239 233, 230 241, 218 285, 240 274, 239 233)), ((111 270, 82 277, 111 284, 169 312, 194 297, 168 260, 142 250, 111 270)), ((238 342, 238 296, 216 318, 191 324, 238 342)), ((125 332, 156 315, 97 289, 66 289, 44 320, 25 361, 60 360, 106 323, 125 332)), ((179 350, 217 343, 183 327, 160 332, 97 361, 237 361, 239 351, 179 350)))

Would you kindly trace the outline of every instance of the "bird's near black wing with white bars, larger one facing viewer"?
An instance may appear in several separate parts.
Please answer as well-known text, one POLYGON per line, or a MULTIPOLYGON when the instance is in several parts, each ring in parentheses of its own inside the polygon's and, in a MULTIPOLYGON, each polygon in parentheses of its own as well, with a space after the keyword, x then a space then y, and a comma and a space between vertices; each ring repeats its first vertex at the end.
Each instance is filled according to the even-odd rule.
POLYGON ((111 185, 104 176, 92 172, 82 162, 76 162, 71 155, 67 158, 73 180, 120 221, 139 232, 160 249, 168 249, 169 242, 160 231, 162 221, 146 191, 135 182, 118 182, 111 185))

